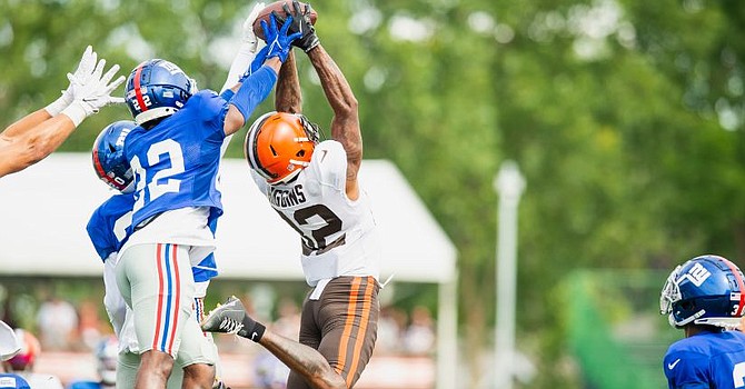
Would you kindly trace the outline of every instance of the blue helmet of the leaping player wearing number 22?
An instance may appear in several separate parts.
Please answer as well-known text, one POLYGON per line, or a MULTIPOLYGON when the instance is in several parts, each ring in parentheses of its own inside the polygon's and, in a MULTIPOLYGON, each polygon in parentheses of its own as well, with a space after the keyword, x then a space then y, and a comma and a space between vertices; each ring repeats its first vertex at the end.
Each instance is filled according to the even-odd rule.
POLYGON ((139 124, 173 114, 197 92, 197 82, 181 68, 162 59, 137 66, 125 87, 125 100, 139 124))

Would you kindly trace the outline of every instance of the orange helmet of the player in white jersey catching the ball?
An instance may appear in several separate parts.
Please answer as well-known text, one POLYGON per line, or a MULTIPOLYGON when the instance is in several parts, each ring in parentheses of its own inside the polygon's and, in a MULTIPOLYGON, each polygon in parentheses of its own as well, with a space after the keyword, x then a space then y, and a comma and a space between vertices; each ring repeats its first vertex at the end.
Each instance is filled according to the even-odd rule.
POLYGON ((251 124, 244 150, 268 183, 287 182, 310 164, 318 127, 300 113, 268 112, 251 124))

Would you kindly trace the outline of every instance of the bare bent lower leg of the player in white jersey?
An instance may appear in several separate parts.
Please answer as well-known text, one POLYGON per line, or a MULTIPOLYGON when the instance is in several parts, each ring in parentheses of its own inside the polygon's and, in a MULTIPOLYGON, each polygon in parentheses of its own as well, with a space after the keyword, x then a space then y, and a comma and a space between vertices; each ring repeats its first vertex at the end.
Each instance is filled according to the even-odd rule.
POLYGON ((312 388, 347 388, 341 376, 328 365, 328 361, 317 350, 270 331, 264 333, 259 343, 292 371, 302 376, 312 388))

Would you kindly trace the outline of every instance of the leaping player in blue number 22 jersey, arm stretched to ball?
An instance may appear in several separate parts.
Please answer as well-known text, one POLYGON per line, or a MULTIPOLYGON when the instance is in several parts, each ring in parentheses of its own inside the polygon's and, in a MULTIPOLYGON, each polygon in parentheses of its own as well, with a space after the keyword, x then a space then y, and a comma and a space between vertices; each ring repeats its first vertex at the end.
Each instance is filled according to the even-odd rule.
POLYGON ((195 285, 182 269, 215 249, 210 225, 222 212, 216 184, 225 139, 268 97, 290 43, 300 36, 277 28, 274 17, 262 26, 267 46, 255 59, 261 67, 231 93, 200 91, 162 59, 140 63, 126 82, 125 98, 138 123, 125 142, 136 200, 116 275, 135 312, 141 351, 137 388, 165 387, 175 359, 185 366, 185 387, 212 385, 216 357, 196 320, 189 320, 195 285))

